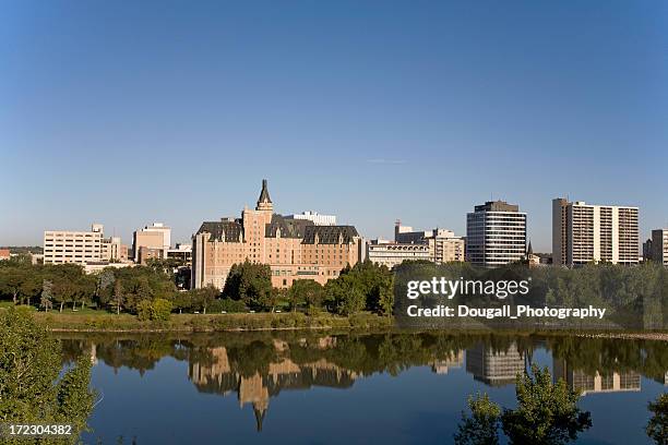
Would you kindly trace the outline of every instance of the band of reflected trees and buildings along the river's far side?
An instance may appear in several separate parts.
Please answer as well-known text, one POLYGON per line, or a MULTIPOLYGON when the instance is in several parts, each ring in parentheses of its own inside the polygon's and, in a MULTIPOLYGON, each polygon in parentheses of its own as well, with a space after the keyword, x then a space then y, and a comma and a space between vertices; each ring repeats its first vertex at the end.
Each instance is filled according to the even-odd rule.
MULTIPOLYGON (((668 375, 667 342, 569 336, 96 335, 64 338, 63 346, 65 361, 85 351, 94 363, 104 363, 117 372, 121 368, 136 370, 141 375, 154 370, 166 357, 184 362, 183 378, 198 392, 236 397, 240 407, 252 406, 258 431, 266 423, 272 399, 282 392, 348 389, 374 374, 395 376, 414 366, 428 366, 442 376, 443 384, 448 384, 451 375, 466 372, 490 388, 500 388, 514 384, 516 374, 529 369, 537 352, 544 356, 547 352, 551 356, 554 380, 563 378, 569 387, 585 396, 641 392, 642 376, 664 384, 668 375)), ((465 398, 461 404, 464 406, 465 398)))

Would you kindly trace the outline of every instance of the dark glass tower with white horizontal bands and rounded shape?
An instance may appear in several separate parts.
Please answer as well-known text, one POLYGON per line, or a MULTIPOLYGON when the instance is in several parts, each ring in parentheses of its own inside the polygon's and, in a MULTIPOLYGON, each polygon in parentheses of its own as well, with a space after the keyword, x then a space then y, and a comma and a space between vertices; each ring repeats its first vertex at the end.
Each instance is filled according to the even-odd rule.
POLYGON ((488 201, 466 215, 466 261, 498 267, 526 256, 526 214, 517 205, 488 201))

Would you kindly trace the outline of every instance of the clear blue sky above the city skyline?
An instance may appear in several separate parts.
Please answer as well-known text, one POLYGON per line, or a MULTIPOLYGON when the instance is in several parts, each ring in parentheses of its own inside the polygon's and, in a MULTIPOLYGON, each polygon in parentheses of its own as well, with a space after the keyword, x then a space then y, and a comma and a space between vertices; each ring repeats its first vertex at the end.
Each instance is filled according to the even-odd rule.
POLYGON ((0 4, 0 245, 152 221, 187 241, 269 179, 368 238, 490 197, 668 225, 668 2, 0 4))

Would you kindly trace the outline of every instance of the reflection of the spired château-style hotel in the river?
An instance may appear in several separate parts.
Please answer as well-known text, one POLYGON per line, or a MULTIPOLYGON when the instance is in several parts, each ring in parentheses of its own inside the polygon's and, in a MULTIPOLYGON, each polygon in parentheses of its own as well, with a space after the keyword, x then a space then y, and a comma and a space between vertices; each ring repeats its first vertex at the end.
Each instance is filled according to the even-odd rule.
MULTIPOLYGON (((329 345, 331 341, 321 339, 319 345, 329 345)), ((285 351, 285 342, 275 342, 277 351, 285 351)), ((258 422, 258 431, 262 430, 262 421, 269 408, 271 397, 277 396, 283 389, 308 389, 312 386, 327 386, 347 388, 353 386, 357 373, 345 370, 338 365, 320 359, 309 363, 295 363, 284 358, 279 362, 269 363, 266 374, 255 373, 251 376, 241 375, 232 370, 227 354, 227 348, 210 349, 213 363, 204 364, 191 361, 189 377, 204 393, 226 395, 237 392, 239 405, 252 404, 258 422)))

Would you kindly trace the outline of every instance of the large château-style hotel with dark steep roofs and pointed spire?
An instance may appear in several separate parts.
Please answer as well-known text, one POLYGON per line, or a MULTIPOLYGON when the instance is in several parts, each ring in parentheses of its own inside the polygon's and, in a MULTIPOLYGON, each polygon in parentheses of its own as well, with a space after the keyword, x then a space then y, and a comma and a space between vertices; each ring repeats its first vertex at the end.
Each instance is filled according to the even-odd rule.
POLYGON ((363 245, 353 226, 317 226, 274 213, 266 180, 254 211, 241 218, 204 221, 192 237, 192 287, 225 286, 234 264, 249 261, 269 264, 274 287, 289 287, 296 279, 320 284, 338 277, 356 264, 363 245))

